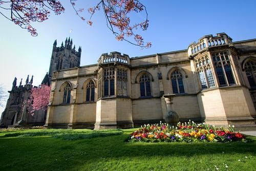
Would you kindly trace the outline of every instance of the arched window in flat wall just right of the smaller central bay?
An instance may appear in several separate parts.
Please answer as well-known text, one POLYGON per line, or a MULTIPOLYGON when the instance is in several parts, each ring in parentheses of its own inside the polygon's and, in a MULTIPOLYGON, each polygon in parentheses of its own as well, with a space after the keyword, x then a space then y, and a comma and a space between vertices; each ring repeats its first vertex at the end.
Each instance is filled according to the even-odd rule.
POLYGON ((140 77, 140 97, 151 96, 151 87, 150 87, 150 76, 143 74, 140 77))

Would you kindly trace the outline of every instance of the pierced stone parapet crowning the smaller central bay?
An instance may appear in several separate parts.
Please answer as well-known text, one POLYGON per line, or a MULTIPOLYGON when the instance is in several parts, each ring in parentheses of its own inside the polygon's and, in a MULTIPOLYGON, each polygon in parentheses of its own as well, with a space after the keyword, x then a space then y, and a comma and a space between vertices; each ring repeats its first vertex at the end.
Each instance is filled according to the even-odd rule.
POLYGON ((126 55, 126 54, 121 55, 121 53, 119 52, 111 52, 110 54, 103 53, 98 60, 99 64, 113 63, 113 62, 130 65, 130 57, 129 55, 126 55))

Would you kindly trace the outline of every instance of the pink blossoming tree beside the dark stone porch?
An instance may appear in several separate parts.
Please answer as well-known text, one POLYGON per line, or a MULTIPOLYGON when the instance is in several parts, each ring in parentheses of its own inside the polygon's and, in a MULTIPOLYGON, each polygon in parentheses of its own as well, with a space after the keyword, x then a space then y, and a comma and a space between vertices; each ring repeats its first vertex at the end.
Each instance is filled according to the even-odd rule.
POLYGON ((30 98, 27 100, 28 111, 34 114, 35 111, 47 110, 51 93, 51 87, 41 84, 38 88, 32 88, 30 98))

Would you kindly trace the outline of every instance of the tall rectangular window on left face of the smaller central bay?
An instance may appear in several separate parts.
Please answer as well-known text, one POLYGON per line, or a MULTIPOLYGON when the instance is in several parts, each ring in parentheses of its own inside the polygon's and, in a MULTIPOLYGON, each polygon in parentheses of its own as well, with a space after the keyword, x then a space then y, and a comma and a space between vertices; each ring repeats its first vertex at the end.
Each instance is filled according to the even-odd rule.
POLYGON ((115 68, 104 69, 104 96, 115 95, 115 68))

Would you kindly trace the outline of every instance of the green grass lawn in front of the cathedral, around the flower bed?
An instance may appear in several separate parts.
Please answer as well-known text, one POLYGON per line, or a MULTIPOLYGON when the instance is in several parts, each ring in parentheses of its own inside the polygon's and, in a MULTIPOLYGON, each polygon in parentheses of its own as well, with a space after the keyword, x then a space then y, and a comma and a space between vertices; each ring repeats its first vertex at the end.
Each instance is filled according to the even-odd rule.
POLYGON ((2 131, 0 170, 256 170, 256 137, 247 143, 126 142, 132 131, 2 131))

